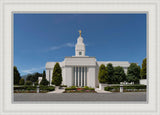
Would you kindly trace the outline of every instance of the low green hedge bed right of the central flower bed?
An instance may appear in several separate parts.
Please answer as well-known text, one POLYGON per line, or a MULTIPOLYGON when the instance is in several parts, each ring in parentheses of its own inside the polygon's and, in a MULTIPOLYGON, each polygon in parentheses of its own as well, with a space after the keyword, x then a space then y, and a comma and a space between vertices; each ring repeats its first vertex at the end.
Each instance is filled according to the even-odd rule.
MULTIPOLYGON (((104 90, 120 92, 120 86, 107 86, 104 90)), ((146 92, 146 85, 124 85, 123 92, 146 92)))

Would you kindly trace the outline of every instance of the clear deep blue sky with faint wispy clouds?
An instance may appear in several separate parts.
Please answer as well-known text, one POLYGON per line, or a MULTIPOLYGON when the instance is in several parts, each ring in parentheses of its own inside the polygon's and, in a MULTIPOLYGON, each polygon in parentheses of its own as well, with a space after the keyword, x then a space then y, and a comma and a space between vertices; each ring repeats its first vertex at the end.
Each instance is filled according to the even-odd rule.
POLYGON ((78 30, 97 61, 146 57, 146 14, 14 14, 14 65, 21 75, 75 55, 78 30))

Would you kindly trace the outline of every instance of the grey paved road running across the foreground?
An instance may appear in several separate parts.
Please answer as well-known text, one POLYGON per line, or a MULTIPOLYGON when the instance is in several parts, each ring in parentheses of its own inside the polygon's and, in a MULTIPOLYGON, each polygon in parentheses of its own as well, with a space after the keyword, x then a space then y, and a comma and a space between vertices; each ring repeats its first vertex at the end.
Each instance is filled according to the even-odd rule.
POLYGON ((14 101, 146 101, 146 92, 15 93, 14 101))

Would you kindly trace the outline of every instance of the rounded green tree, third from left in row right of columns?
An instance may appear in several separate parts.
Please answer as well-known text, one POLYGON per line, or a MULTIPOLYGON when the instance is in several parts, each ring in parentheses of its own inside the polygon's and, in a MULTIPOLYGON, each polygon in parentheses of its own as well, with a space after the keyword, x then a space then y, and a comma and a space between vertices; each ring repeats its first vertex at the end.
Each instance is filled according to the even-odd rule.
POLYGON ((124 82, 126 80, 126 74, 124 72, 123 67, 117 66, 114 68, 114 83, 124 82))

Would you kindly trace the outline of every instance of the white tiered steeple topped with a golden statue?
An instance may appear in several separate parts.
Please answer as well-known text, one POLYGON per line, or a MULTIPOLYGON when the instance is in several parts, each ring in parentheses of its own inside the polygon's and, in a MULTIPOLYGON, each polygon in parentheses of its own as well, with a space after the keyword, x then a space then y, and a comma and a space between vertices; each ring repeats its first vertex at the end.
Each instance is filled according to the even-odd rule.
POLYGON ((81 36, 82 31, 79 30, 79 37, 77 39, 77 44, 75 46, 75 56, 85 56, 85 45, 83 43, 83 38, 81 36))

